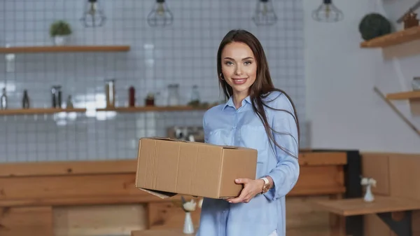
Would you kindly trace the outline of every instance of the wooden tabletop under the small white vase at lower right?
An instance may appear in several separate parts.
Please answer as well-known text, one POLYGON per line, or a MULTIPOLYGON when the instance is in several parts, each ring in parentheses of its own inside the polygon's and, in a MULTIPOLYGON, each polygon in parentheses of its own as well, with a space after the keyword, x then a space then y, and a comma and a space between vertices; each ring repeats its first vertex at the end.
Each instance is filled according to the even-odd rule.
POLYGON ((405 197, 376 196, 374 202, 365 202, 363 198, 318 201, 315 204, 340 216, 358 216, 390 211, 419 210, 420 200, 405 197))

